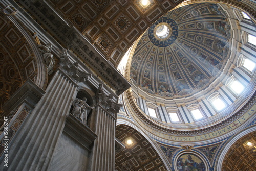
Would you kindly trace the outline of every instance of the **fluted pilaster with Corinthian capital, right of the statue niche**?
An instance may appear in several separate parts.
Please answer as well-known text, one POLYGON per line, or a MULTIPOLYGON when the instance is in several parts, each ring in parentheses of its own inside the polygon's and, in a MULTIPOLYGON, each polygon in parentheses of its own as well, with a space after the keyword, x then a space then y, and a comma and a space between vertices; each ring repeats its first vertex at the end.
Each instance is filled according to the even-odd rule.
POLYGON ((103 91, 97 94, 96 127, 98 135, 92 152, 92 171, 113 171, 115 167, 115 127, 116 114, 122 105, 113 102, 112 96, 103 91))

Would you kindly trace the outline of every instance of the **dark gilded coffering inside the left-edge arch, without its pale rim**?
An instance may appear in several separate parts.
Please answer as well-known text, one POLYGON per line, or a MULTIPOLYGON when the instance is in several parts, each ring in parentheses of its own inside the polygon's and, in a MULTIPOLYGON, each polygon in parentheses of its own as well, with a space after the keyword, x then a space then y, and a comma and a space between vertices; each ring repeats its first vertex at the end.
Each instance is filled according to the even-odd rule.
POLYGON ((14 24, 0 15, 0 106, 27 79, 36 82, 37 64, 29 42, 14 24))

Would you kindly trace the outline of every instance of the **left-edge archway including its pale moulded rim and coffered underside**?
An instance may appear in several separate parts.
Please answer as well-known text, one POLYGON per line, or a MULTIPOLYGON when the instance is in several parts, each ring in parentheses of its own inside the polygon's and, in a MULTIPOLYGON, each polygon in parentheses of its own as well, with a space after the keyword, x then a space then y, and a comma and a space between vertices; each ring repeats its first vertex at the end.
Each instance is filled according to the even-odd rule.
POLYGON ((0 20, 0 72, 4 73, 0 78, 1 107, 28 79, 45 90, 48 73, 35 39, 24 24, 12 16, 0 16, 0 20))

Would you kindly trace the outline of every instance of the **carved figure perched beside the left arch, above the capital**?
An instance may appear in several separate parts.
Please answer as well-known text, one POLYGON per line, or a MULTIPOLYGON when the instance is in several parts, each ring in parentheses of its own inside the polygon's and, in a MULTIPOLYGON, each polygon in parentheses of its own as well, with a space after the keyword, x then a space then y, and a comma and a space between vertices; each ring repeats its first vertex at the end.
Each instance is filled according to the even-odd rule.
POLYGON ((52 74, 53 72, 53 67, 54 67, 54 59, 53 55, 51 54, 51 48, 52 44, 47 44, 47 45, 38 45, 39 51, 42 53, 42 56, 44 57, 44 60, 46 62, 47 68, 48 68, 48 74, 52 74))

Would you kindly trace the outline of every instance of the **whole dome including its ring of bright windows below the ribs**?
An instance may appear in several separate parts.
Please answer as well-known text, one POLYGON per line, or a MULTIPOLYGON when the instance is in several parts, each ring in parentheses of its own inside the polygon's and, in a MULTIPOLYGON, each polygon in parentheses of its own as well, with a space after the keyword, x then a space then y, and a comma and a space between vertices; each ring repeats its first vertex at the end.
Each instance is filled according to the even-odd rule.
POLYGON ((255 72, 243 66, 253 59, 243 49, 254 50, 240 18, 240 10, 225 4, 196 3, 148 28, 129 60, 137 115, 172 129, 196 129, 236 113, 255 90, 255 72))

